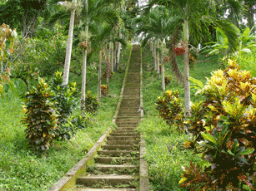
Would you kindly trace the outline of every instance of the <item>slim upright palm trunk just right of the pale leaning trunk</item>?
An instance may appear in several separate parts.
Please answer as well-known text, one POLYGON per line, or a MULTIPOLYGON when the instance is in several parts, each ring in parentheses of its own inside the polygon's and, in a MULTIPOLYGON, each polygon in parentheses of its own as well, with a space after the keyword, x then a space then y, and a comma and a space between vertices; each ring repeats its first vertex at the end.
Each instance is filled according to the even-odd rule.
MULTIPOLYGON (((85 37, 88 44, 88 0, 85 0, 86 18, 85 18, 85 37)), ((85 110, 85 91, 86 91, 86 62, 87 50, 83 50, 83 71, 82 71, 82 95, 81 95, 81 110, 85 110)))

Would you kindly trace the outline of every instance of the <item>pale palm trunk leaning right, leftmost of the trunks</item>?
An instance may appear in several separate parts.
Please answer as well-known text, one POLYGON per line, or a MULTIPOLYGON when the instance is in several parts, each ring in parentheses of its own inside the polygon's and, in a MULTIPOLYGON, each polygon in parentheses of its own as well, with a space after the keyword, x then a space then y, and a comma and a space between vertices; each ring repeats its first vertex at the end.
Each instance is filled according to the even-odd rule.
POLYGON ((69 76, 69 67, 71 60, 71 52, 72 52, 72 42, 73 42, 73 23, 75 18, 75 9, 72 9, 68 30, 68 42, 66 49, 66 57, 65 57, 65 65, 63 71, 63 85, 68 85, 68 76, 69 76))

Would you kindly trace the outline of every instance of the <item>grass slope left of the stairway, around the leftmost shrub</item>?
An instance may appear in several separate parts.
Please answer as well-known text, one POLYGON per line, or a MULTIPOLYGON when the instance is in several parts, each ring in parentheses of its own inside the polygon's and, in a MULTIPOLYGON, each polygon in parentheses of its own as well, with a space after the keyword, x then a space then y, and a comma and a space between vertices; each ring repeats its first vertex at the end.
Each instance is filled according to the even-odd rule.
MULTIPOLYGON (((109 96, 102 98, 97 115, 88 122, 88 128, 78 131, 69 141, 54 140, 46 154, 33 154, 26 142, 20 123, 23 117, 21 92, 25 87, 16 82, 14 92, 0 97, 0 190, 47 190, 77 164, 103 132, 113 126, 112 117, 123 83, 123 72, 128 60, 128 47, 121 58, 121 73, 110 80, 109 96)), ((71 76, 72 77, 72 76, 71 76)), ((87 90, 97 92, 98 78, 91 79, 87 90)), ((74 114, 79 113, 76 110, 74 114)))

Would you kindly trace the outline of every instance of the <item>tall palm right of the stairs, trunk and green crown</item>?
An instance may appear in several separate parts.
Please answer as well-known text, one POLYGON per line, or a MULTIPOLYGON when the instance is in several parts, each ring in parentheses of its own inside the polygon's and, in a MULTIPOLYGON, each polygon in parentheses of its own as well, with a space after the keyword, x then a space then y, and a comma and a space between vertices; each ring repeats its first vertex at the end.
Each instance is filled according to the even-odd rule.
MULTIPOLYGON (((184 100, 185 100, 185 114, 189 115, 190 110, 190 85, 189 85, 189 68, 188 68, 188 40, 189 40, 189 26, 193 31, 193 39, 200 39, 201 25, 200 22, 212 22, 223 29, 223 32, 228 37, 228 51, 234 51, 238 47, 238 34, 233 30, 233 26, 230 25, 224 19, 210 17, 208 15, 208 10, 212 5, 212 2, 237 2, 235 0, 152 0, 148 3, 148 8, 153 7, 153 5, 163 5, 170 9, 175 7, 178 10, 178 17, 183 18, 183 45, 186 47, 186 51, 183 54, 183 64, 184 64, 184 100)), ((238 10, 239 11, 239 10, 238 10)), ((190 30, 191 30, 190 29, 190 30)))

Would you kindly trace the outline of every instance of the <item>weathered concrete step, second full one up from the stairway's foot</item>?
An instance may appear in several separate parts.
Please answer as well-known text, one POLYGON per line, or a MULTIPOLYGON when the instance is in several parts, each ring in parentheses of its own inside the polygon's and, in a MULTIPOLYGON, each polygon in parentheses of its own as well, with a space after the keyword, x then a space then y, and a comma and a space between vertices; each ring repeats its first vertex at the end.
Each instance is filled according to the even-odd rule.
POLYGON ((99 156, 95 158, 95 162, 98 164, 127 164, 134 163, 138 158, 133 157, 103 157, 99 156))

